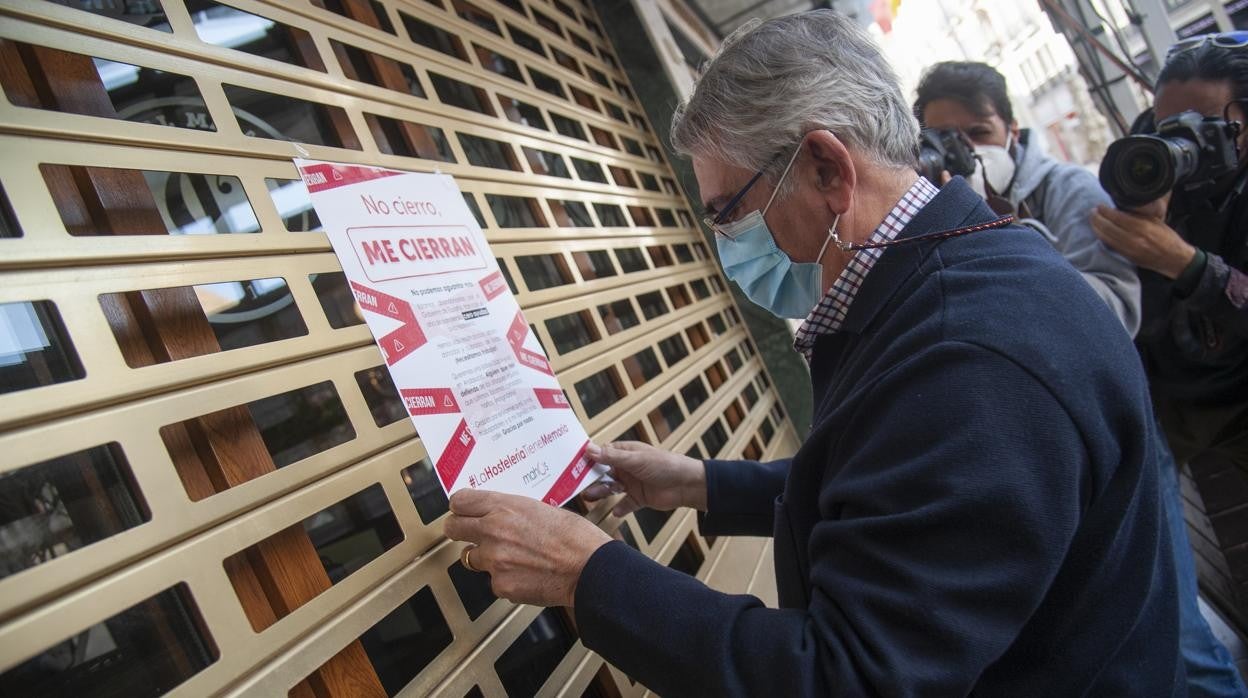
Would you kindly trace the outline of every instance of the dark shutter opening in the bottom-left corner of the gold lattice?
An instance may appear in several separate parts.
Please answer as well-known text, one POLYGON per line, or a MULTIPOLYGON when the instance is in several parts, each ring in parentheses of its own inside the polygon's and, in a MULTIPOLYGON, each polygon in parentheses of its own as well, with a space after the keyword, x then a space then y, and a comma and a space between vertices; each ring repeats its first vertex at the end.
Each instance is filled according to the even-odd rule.
POLYGON ((163 696, 217 657, 190 589, 177 584, 0 674, 0 696, 163 696))

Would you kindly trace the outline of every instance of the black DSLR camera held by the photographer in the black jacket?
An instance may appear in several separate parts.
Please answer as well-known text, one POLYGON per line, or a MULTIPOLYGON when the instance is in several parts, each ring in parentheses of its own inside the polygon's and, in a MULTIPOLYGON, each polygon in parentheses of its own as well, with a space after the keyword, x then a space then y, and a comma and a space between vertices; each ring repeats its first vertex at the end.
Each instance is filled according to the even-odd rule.
POLYGON ((1157 124, 1156 135, 1109 144, 1101 161, 1101 186, 1118 206, 1139 206, 1181 187, 1197 189, 1239 166, 1238 122, 1196 111, 1157 124))

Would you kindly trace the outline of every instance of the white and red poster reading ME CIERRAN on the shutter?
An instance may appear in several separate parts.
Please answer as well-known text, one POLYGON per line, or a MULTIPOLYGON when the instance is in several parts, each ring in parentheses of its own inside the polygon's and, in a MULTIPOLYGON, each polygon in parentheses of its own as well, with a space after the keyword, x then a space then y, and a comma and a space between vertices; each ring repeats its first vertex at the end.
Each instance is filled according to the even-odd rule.
POLYGON ((447 494, 562 506, 597 479, 589 437, 454 180, 295 164, 447 494))

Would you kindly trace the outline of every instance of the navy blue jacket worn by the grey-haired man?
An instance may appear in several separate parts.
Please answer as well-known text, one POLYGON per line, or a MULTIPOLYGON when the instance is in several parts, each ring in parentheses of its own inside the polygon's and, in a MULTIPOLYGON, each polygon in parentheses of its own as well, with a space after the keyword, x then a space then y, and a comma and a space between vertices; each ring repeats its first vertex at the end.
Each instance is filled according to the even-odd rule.
MULTIPOLYGON (((993 217, 956 180, 901 237, 993 217)), ((612 542, 587 647, 666 697, 1183 693, 1144 376, 1048 242, 887 248, 811 380, 791 460, 706 462, 703 533, 774 536, 780 608, 612 542)))

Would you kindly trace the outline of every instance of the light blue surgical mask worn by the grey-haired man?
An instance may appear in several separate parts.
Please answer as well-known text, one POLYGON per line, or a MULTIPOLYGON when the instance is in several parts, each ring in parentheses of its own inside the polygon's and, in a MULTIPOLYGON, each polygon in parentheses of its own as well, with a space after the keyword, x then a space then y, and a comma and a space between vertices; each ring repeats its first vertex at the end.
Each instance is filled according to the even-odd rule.
MULTIPOLYGON (((801 152, 800 145, 797 152, 801 152)), ((797 152, 785 166, 780 181, 776 182, 776 191, 771 194, 766 206, 740 220, 719 224, 715 235, 715 247, 719 250, 724 273, 735 281, 755 305, 773 315, 794 320, 810 315, 824 296, 824 266, 820 260, 824 258, 827 243, 832 240, 836 224, 840 221, 837 215, 814 262, 794 262, 776 246, 764 216, 771 209, 771 202, 775 201, 776 192, 780 191, 780 185, 792 167, 797 152)))

